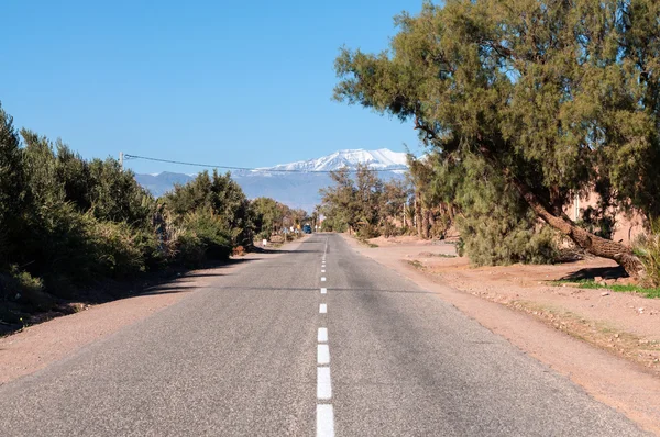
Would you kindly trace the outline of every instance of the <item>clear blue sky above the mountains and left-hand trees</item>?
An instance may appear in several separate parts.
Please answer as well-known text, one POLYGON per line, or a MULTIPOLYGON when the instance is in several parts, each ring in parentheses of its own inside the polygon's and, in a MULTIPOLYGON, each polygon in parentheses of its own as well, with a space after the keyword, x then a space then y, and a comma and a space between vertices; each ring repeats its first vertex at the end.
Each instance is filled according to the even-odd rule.
MULTIPOLYGON (((331 100, 339 47, 380 52, 421 0, 2 1, 0 101, 84 157, 260 167, 418 152, 410 124, 331 100)), ((196 169, 128 161, 138 172, 196 169)))

